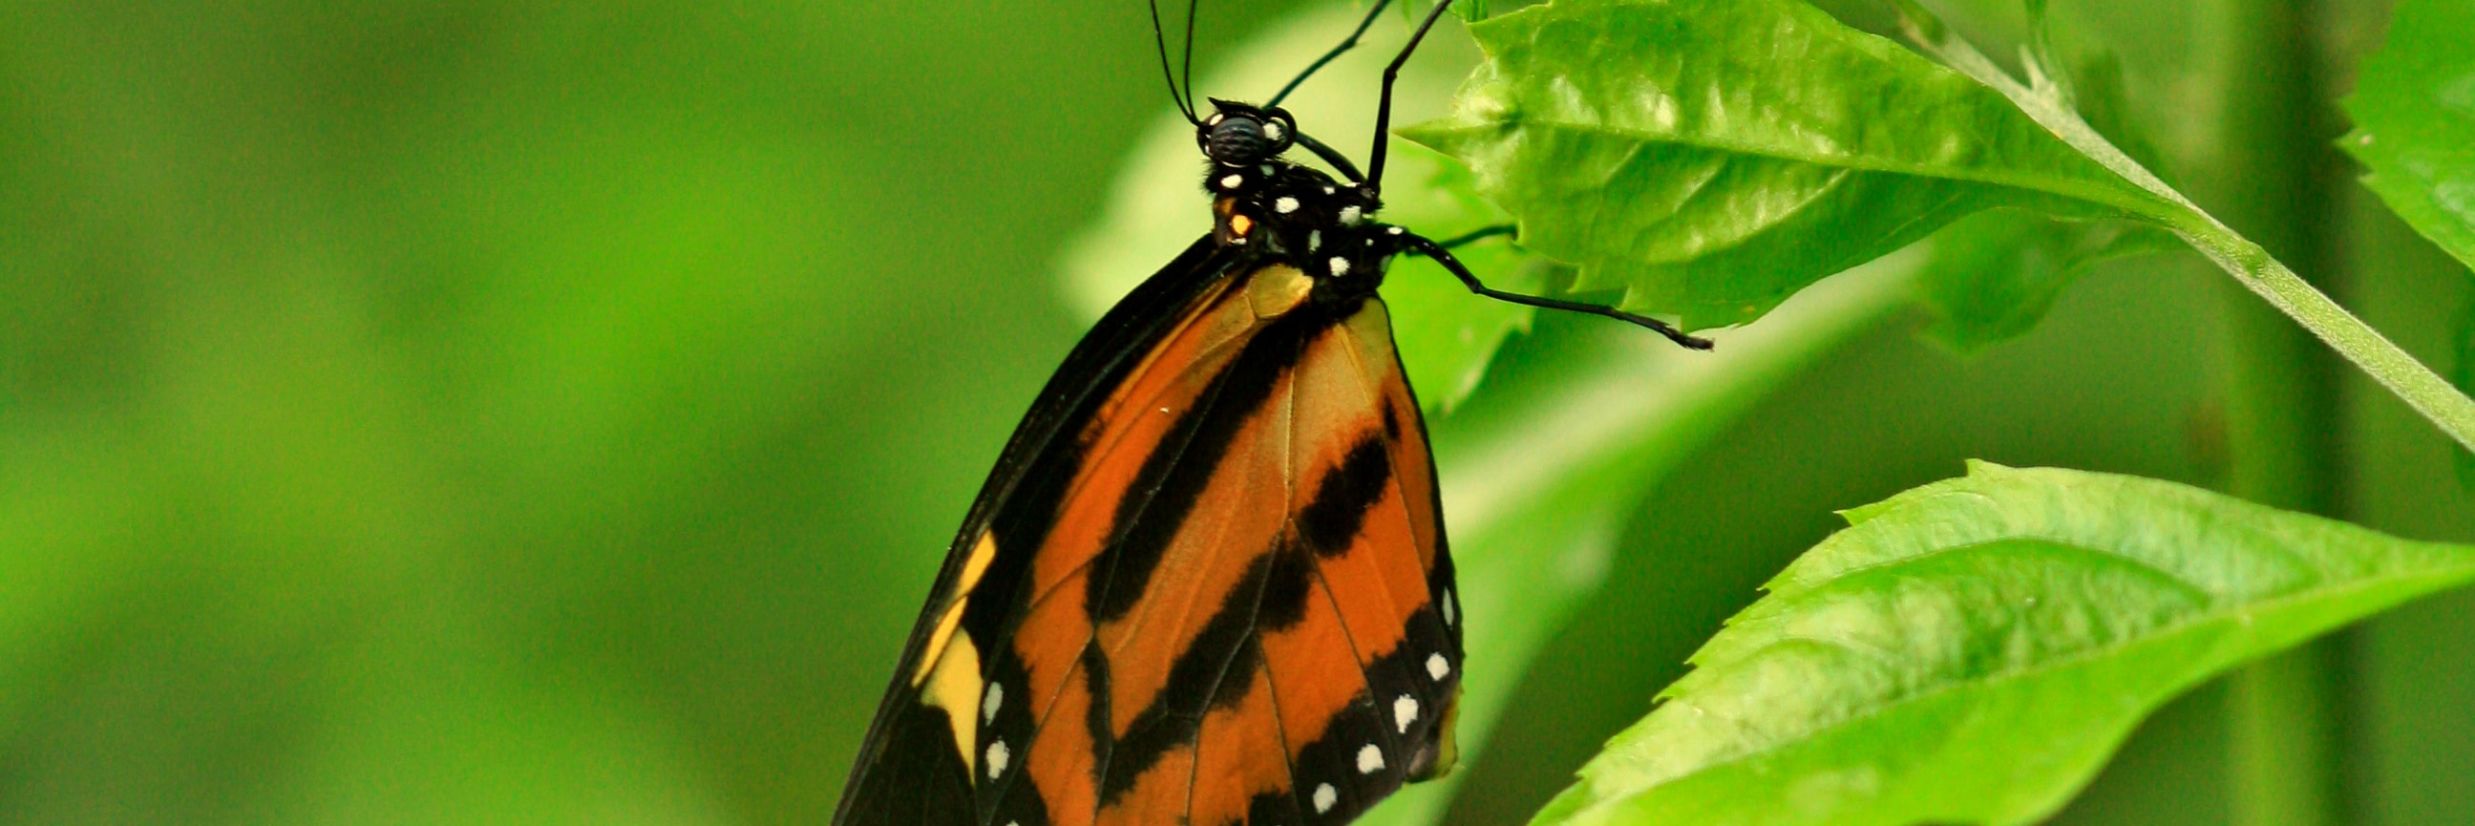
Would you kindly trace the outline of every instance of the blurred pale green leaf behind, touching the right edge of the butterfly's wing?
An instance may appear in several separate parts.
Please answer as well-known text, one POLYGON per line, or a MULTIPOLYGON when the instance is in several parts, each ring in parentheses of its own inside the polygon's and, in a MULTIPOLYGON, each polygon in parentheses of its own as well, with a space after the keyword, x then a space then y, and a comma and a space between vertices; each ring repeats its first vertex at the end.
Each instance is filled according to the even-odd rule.
MULTIPOLYGON (((1710 354, 1577 319, 1591 336, 1492 373, 1463 411, 1431 420, 1468 616, 1465 762, 1539 648, 1599 591, 1641 497, 1782 381, 1903 309, 1916 267, 1893 255, 1817 284, 1770 324, 1720 331, 1710 354)), ((1361 824, 1436 824, 1463 777, 1413 784, 1361 824)))

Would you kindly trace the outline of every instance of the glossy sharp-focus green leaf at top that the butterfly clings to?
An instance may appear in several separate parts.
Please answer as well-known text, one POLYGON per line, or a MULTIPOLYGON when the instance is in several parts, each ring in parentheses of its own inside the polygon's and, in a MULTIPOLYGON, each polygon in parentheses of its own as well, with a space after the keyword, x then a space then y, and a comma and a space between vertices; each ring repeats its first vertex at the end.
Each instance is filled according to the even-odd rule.
POLYGON ((1985 208, 2161 213, 2002 94, 1802 2, 1562 0, 1470 32, 1487 62, 1408 136, 1470 163, 1577 287, 1685 326, 1985 208))

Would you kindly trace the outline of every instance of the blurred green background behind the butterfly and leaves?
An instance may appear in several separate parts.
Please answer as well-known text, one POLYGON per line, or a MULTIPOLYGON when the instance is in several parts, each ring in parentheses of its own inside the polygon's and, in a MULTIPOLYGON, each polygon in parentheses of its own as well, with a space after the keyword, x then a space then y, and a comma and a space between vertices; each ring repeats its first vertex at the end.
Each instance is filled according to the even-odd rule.
MULTIPOLYGON (((2190 22, 2242 7, 2081 5, 2166 114, 2218 89, 2190 22)), ((2381 5, 2324 20, 2341 92, 2381 5)), ((0 821, 824 821, 1163 114, 1134 2, 0 5, 0 821)), ((2240 213, 2247 161, 2161 124, 2240 213)), ((2309 208, 2339 297, 2448 364, 2468 272, 2354 185, 2309 208)), ((1515 712, 1453 821, 1544 801, 1834 507, 1960 458, 2223 480, 2237 299, 2151 257, 1978 359, 1916 317, 1829 356, 1641 502, 1522 685, 1470 688, 1515 712)), ((2475 539, 2428 425, 2351 376, 2329 411, 2329 509, 2475 539)), ((2364 821, 2475 821, 2470 623, 2331 645, 2364 821)), ((2225 702, 2064 821, 2225 821, 2225 702)))

